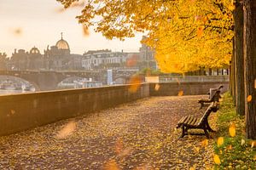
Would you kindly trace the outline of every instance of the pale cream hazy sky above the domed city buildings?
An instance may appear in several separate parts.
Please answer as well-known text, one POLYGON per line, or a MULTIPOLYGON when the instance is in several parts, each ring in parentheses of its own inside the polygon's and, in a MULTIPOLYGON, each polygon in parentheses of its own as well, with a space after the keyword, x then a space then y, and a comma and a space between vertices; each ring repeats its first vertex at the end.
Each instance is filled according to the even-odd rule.
POLYGON ((63 39, 70 44, 72 54, 106 48, 112 51, 137 52, 141 47, 142 34, 120 42, 107 40, 101 33, 90 28, 90 35, 84 37, 82 26, 75 19, 81 8, 64 11, 61 8, 61 3, 55 0, 0 0, 0 53, 5 52, 10 57, 15 48, 28 51, 34 46, 43 53, 48 45, 53 46, 61 39, 61 32, 63 39))

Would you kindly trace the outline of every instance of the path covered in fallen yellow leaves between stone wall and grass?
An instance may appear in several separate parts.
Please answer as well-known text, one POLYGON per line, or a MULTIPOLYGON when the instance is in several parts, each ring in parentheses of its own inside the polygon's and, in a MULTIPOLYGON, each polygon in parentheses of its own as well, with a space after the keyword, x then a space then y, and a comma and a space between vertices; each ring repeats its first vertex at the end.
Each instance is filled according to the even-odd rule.
POLYGON ((207 169, 212 139, 174 129, 201 116, 201 97, 152 97, 0 137, 0 169, 207 169))

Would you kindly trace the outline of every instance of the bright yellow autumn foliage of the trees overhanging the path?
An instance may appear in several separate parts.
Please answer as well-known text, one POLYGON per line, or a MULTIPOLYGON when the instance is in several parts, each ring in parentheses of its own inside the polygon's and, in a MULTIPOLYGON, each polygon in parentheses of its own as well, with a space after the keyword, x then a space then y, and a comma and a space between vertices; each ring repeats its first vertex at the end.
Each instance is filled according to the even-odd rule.
MULTIPOLYGON (((66 8, 73 4, 73 0, 57 1, 66 8)), ((143 43, 154 49, 160 70, 184 73, 229 65, 233 9, 230 0, 92 0, 77 18, 108 39, 124 40, 147 31, 143 43)))

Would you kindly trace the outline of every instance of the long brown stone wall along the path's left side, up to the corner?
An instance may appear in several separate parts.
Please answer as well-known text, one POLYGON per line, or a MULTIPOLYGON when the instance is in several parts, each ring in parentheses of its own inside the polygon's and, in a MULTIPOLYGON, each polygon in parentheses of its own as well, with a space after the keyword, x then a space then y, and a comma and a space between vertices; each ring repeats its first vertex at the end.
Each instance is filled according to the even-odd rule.
POLYGON ((149 96, 149 84, 136 93, 129 85, 0 96, 0 135, 101 111, 149 96))

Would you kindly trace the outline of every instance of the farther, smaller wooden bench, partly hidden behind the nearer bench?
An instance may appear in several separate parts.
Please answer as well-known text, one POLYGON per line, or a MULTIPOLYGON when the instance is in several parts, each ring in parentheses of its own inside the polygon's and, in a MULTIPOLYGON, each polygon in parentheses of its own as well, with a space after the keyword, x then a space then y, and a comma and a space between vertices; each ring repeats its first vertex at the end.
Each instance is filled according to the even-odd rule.
POLYGON ((201 104, 201 108, 205 105, 205 103, 212 103, 215 101, 218 102, 218 100, 221 99, 221 96, 220 96, 221 88, 223 88, 223 85, 220 85, 218 88, 210 88, 210 92, 208 93, 209 99, 199 99, 198 100, 198 103, 201 104))

